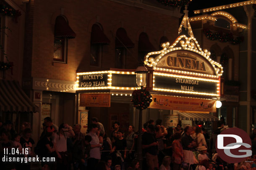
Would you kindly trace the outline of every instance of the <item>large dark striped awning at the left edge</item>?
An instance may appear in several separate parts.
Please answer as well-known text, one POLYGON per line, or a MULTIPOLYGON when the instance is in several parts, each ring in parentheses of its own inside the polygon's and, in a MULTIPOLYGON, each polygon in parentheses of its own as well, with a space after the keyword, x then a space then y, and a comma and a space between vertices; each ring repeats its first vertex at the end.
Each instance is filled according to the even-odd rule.
POLYGON ((0 111, 4 112, 37 112, 18 81, 0 80, 0 111))

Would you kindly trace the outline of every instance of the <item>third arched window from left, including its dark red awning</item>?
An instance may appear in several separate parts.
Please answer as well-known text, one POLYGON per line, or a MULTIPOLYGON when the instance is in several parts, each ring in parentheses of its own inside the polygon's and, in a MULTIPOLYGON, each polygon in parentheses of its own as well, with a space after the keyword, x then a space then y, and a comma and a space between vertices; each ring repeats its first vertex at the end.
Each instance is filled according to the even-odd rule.
POLYGON ((125 69, 128 48, 134 48, 134 43, 127 36, 124 28, 118 28, 115 36, 115 68, 125 69))

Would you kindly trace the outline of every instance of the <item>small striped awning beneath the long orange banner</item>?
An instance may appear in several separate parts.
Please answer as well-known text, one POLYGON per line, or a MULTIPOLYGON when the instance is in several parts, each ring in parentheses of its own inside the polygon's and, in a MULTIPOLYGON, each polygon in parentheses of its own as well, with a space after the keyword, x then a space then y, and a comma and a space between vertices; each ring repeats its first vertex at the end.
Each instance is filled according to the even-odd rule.
POLYGON ((219 119, 209 113, 186 113, 178 112, 180 120, 196 120, 196 121, 218 121, 219 119))

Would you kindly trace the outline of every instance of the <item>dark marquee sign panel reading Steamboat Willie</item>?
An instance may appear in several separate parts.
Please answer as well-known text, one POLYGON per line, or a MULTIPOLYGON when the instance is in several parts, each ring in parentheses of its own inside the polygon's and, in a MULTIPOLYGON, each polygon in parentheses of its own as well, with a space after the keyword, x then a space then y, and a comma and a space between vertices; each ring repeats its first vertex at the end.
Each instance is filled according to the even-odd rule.
POLYGON ((188 76, 154 74, 155 89, 171 89, 191 94, 218 95, 218 80, 199 79, 188 76))

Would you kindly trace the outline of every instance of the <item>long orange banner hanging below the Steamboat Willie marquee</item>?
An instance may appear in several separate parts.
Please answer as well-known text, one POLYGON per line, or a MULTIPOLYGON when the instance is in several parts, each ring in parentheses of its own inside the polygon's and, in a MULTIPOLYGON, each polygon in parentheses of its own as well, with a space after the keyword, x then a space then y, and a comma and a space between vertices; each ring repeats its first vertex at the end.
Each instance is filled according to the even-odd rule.
POLYGON ((152 94, 152 102, 150 103, 149 108, 196 112, 216 112, 216 101, 152 94))

